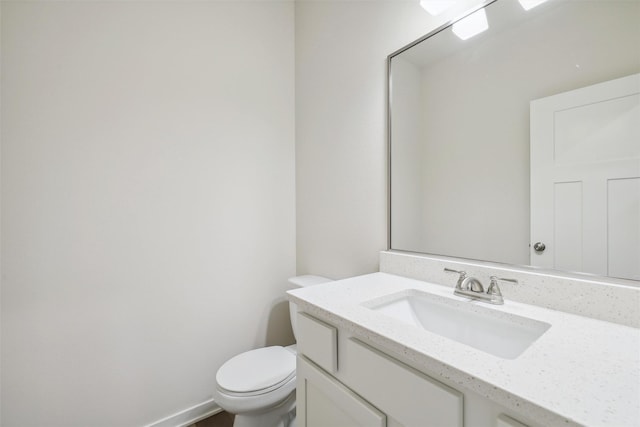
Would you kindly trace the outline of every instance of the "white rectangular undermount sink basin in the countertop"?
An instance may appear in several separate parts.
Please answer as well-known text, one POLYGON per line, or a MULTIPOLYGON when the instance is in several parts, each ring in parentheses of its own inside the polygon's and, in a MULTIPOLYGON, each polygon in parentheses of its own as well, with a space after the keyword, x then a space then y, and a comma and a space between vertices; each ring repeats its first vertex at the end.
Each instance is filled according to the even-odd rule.
POLYGON ((515 359, 551 327, 477 303, 407 290, 363 305, 442 337, 504 359, 515 359))

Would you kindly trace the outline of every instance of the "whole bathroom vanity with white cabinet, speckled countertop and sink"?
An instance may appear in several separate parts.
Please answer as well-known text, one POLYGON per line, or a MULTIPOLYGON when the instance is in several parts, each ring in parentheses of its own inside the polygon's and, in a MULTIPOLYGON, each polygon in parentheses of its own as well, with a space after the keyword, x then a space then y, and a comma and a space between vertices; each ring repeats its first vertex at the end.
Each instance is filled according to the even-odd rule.
POLYGON ((299 309, 299 426, 640 422, 637 328, 506 298, 491 306, 389 273, 288 294, 299 309))

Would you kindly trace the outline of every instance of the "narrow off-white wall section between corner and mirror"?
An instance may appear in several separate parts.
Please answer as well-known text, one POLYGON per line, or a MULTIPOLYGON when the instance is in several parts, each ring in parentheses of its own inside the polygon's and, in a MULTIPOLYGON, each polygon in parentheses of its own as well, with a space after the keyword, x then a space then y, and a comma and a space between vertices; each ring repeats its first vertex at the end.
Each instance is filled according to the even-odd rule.
POLYGON ((296 2, 298 273, 378 270, 387 247, 386 58, 443 19, 417 1, 296 2))

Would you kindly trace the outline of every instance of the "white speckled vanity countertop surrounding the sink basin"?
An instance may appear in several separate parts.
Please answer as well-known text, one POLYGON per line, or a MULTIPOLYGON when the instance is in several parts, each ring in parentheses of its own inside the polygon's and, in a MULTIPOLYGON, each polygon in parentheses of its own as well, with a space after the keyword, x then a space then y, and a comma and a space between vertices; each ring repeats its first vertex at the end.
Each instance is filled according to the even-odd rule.
POLYGON ((467 300, 452 288, 387 273, 288 294, 299 309, 542 425, 640 425, 640 329, 508 300, 484 304, 551 324, 520 356, 503 359, 362 305, 411 289, 467 300))

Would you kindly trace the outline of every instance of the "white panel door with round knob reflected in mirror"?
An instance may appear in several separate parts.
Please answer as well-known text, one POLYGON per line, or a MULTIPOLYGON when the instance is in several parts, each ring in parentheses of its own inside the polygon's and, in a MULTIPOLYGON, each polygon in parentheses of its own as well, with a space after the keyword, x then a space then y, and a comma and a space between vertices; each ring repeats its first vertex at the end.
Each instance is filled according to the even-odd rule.
POLYGON ((531 265, 640 280, 640 74, 531 101, 531 265))

